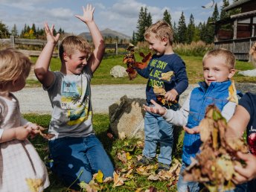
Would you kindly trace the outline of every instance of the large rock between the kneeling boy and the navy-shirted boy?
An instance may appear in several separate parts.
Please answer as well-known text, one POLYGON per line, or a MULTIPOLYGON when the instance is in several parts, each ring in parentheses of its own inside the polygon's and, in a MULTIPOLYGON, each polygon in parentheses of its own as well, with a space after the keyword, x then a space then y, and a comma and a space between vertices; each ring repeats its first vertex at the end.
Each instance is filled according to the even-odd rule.
POLYGON ((144 99, 124 95, 109 106, 110 128, 115 136, 144 139, 144 103, 144 99))

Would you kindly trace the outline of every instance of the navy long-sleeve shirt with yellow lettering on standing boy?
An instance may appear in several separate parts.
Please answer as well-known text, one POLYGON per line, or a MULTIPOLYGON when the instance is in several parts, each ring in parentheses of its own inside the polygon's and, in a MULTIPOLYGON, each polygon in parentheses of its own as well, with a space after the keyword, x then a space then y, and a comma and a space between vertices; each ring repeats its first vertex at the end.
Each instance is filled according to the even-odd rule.
MULTIPOLYGON (((185 63, 177 54, 164 54, 161 56, 154 54, 147 68, 137 68, 136 70, 142 77, 148 78, 146 88, 147 103, 150 103, 151 99, 156 100, 156 95, 153 92, 154 85, 163 87, 166 92, 175 89, 179 95, 188 88, 185 63), (170 81, 160 80, 161 74, 168 71, 173 71, 174 74, 170 81)), ((177 99, 179 100, 179 97, 177 99)))

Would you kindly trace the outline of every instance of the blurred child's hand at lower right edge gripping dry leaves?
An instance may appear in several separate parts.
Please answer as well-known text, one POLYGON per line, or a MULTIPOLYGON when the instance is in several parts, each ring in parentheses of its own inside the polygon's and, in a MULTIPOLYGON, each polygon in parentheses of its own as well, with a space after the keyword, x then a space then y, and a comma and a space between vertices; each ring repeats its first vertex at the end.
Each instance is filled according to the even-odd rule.
POLYGON ((238 174, 235 174, 232 181, 235 184, 241 184, 256 178, 256 157, 252 154, 243 154, 240 152, 237 153, 237 156, 246 162, 246 167, 235 166, 234 170, 238 174))

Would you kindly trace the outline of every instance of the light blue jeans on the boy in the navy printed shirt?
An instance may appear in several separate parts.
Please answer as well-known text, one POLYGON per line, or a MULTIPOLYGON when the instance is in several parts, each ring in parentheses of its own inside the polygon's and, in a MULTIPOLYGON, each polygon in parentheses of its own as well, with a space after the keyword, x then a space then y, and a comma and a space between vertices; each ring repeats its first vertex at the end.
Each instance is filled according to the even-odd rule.
MULTIPOLYGON (((178 105, 173 105, 172 109, 178 109, 178 105)), ((144 117, 144 133, 143 155, 149 158, 156 157, 156 147, 159 143, 160 154, 158 161, 170 164, 173 150, 173 124, 167 123, 161 115, 146 112, 144 117)))

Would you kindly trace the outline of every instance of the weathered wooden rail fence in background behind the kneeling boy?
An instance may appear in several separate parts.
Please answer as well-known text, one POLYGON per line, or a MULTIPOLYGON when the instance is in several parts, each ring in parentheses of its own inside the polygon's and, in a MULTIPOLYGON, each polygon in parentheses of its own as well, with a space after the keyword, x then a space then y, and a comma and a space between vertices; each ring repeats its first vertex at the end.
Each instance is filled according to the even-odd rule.
MULTIPOLYGON (((47 42, 47 40, 42 40, 42 39, 19 39, 19 38, 16 38, 15 36, 10 36, 10 47, 11 48, 16 48, 16 45, 36 45, 36 46, 43 48, 45 46, 46 42, 47 42)), ((59 45, 60 45, 60 41, 56 45, 57 46, 56 50, 58 50, 59 45)), ((127 48, 127 47, 128 47, 128 43, 126 43, 126 44, 122 44, 122 43, 106 44, 106 48, 115 49, 114 52, 116 55, 118 55, 118 48, 127 48)), ((31 56, 39 56, 42 49, 41 49, 41 51, 19 49, 19 51, 26 54, 28 57, 31 57, 31 56)), ((52 57, 58 57, 58 56, 59 56, 58 51, 54 51, 52 57)))

